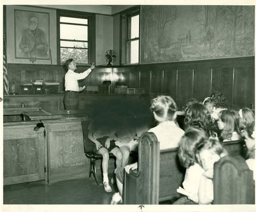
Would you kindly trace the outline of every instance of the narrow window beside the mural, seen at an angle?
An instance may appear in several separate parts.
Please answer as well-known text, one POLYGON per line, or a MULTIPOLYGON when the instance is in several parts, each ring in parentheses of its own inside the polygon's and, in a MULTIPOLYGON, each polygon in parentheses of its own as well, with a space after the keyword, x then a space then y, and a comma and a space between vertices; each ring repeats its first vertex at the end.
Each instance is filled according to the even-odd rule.
POLYGON ((140 9, 122 14, 122 64, 138 64, 140 52, 140 9))

